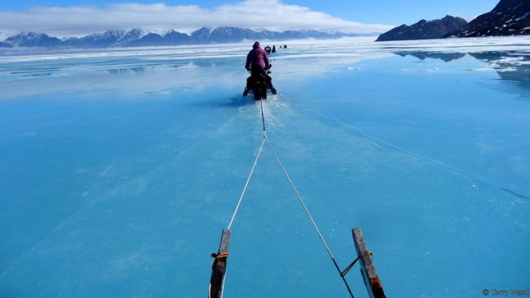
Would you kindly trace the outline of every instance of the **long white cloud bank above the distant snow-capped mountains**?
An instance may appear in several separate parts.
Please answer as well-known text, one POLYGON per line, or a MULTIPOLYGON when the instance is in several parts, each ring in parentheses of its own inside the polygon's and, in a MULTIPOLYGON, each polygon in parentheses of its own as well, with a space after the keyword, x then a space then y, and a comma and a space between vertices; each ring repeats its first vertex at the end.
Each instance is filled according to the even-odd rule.
POLYGON ((173 29, 191 32, 201 27, 231 26, 270 30, 341 30, 385 32, 392 25, 363 24, 315 12, 279 0, 246 0, 212 10, 199 6, 167 6, 164 3, 92 6, 38 7, 25 11, 0 11, 0 32, 44 32, 52 36, 83 36, 113 29, 173 29))

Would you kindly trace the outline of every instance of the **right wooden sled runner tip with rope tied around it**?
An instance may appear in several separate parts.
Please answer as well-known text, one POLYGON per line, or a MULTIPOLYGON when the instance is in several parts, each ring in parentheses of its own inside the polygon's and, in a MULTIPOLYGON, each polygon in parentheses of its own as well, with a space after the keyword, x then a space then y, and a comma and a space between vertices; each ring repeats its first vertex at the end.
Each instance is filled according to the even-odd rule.
POLYGON ((370 298, 386 298, 383 285, 379 280, 377 270, 375 270, 374 262, 372 261, 372 252, 368 251, 361 228, 353 228, 352 235, 355 251, 357 251, 359 263, 361 264, 361 275, 363 275, 368 295, 370 298))

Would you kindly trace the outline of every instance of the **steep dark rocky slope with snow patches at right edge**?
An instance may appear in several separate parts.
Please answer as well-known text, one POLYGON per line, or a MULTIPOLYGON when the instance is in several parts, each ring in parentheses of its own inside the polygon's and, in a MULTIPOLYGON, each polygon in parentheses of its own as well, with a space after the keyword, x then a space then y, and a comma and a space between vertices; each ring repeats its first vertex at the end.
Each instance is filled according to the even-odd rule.
POLYGON ((481 14, 445 37, 510 36, 530 34, 530 0, 500 0, 494 10, 481 14))

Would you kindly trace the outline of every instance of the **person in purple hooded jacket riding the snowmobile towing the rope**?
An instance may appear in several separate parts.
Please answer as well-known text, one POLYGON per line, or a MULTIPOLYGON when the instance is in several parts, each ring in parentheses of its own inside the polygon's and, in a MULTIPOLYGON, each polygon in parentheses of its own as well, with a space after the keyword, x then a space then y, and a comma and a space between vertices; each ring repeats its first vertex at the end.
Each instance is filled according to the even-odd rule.
POLYGON ((246 87, 243 92, 243 95, 246 96, 248 91, 252 89, 254 82, 264 80, 267 87, 271 89, 273 94, 276 94, 276 89, 273 86, 271 76, 268 76, 266 70, 271 68, 271 65, 268 63, 268 55, 261 47, 259 47, 259 42, 256 41, 252 45, 252 50, 246 55, 246 70, 250 70, 251 76, 246 79, 246 87))

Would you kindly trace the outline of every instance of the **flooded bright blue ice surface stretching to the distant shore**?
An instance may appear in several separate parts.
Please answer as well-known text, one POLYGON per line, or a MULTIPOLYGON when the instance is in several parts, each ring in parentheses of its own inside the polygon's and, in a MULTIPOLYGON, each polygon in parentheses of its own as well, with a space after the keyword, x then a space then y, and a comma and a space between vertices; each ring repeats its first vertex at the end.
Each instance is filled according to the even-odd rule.
MULTIPOLYGON (((0 57, 0 297, 206 297, 263 138, 249 47, 0 57)), ((524 38, 271 55, 268 139, 341 268, 361 227, 388 297, 530 287, 529 57, 524 38)), ((267 148, 231 230, 225 298, 348 297, 267 148)))

